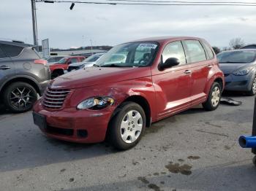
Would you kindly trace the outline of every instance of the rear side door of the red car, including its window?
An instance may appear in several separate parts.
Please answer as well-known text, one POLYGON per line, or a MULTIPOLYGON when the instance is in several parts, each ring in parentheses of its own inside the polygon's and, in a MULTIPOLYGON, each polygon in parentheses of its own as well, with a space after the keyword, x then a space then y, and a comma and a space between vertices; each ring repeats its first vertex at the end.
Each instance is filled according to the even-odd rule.
POLYGON ((208 73, 211 70, 211 60, 207 60, 206 50, 198 40, 184 40, 184 49, 187 63, 191 71, 192 88, 191 101, 192 105, 200 104, 206 98, 204 92, 208 73))

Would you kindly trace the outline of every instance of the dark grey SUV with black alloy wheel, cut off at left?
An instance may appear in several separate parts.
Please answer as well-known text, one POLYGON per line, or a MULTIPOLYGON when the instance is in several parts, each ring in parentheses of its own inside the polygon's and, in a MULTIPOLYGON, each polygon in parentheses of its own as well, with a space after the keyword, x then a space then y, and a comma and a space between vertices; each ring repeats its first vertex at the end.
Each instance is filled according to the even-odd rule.
POLYGON ((50 81, 50 70, 30 44, 0 41, 0 102, 11 112, 26 112, 50 81))

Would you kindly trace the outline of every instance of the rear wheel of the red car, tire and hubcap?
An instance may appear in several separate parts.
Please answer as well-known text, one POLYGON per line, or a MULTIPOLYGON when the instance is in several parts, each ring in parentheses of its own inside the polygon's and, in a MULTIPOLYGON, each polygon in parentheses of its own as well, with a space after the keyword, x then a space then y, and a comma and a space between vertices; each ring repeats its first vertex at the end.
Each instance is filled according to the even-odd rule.
POLYGON ((211 90, 208 94, 207 101, 203 103, 203 108, 206 109, 206 111, 214 111, 218 108, 220 98, 222 95, 222 88, 219 85, 218 82, 214 82, 211 85, 211 90))

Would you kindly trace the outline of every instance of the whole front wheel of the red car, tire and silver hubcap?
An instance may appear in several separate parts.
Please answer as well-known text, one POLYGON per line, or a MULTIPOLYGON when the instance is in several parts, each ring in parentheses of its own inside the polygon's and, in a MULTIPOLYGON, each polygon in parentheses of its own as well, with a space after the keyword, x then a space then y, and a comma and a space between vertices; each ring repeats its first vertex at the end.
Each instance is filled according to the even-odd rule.
POLYGON ((108 141, 116 149, 126 150, 135 147, 143 136, 146 114, 140 105, 131 101, 124 102, 118 109, 108 127, 108 141))

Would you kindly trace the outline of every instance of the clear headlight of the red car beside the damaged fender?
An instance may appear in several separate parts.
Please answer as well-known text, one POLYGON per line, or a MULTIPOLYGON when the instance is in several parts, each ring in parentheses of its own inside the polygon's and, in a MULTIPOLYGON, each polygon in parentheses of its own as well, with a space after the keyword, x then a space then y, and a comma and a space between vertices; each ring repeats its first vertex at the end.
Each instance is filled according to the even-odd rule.
POLYGON ((107 106, 112 106, 114 104, 113 98, 110 97, 94 97, 88 98, 80 104, 78 104, 77 109, 103 109, 107 106))

